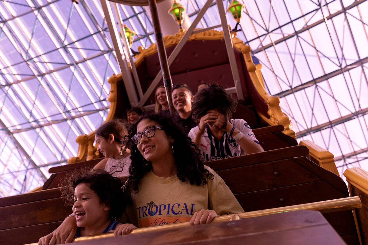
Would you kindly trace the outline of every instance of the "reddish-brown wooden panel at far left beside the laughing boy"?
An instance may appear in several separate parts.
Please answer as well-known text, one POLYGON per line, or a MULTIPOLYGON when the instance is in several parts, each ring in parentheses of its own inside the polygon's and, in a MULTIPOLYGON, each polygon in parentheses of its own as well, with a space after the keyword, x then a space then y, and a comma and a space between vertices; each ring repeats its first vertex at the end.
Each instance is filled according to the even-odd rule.
POLYGON ((71 207, 64 206, 61 188, 0 198, 1 244, 26 244, 55 230, 71 207))

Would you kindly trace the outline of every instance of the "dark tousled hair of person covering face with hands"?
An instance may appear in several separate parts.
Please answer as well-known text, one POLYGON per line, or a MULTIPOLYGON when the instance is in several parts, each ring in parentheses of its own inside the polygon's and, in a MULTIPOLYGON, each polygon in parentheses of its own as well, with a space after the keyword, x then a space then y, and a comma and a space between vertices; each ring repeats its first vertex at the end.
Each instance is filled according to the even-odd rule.
POLYGON ((217 109, 225 117, 225 122, 231 119, 238 105, 224 87, 218 84, 210 84, 208 87, 198 91, 192 103, 192 118, 199 125, 202 116, 207 111, 217 109))

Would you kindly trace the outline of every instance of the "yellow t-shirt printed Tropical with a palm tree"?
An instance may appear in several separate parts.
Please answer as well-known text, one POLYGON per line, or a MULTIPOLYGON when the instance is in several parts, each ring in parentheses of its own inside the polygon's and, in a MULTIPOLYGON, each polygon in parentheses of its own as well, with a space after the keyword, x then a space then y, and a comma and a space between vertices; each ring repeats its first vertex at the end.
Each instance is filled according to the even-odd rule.
POLYGON ((158 177, 152 171, 139 182, 139 191, 132 191, 134 210, 138 226, 159 226, 162 224, 189 221, 201 209, 215 210, 217 215, 244 212, 225 182, 210 167, 213 174, 206 185, 182 182, 178 177, 158 177))

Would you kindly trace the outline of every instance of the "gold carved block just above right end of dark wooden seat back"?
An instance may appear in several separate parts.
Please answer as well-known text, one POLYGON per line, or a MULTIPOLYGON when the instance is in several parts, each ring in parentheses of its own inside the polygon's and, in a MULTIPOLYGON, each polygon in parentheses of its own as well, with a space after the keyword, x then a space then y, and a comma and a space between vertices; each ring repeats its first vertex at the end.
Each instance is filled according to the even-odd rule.
POLYGON ((333 159, 334 156, 331 152, 316 145, 310 140, 302 140, 299 145, 305 145, 308 147, 309 155, 319 163, 319 166, 335 173, 337 176, 340 176, 339 171, 337 171, 335 160, 333 159))

